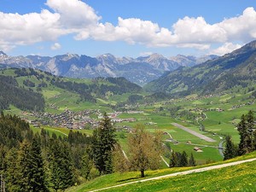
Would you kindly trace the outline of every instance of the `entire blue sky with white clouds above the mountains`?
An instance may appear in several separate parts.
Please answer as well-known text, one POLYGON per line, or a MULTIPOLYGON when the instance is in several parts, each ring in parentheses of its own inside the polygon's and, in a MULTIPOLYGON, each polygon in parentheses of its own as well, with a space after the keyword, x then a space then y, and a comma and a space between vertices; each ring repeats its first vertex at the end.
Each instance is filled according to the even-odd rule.
POLYGON ((0 0, 8 55, 224 55, 254 39, 254 0, 0 0))

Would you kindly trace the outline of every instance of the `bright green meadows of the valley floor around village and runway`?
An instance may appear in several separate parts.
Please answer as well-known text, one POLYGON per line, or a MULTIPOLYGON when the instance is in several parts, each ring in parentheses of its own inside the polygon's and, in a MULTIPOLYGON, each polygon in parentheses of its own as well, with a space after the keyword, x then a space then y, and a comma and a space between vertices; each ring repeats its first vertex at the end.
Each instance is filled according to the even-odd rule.
MULTIPOLYGON (((100 111, 113 112, 112 108, 109 108, 108 104, 114 104, 113 100, 120 101, 122 96, 110 96, 108 100, 97 100, 96 105, 90 102, 80 102, 76 103, 76 100, 79 96, 76 96, 74 93, 69 91, 61 91, 57 89, 45 90, 44 96, 47 101, 47 106, 54 104, 57 106, 57 109, 46 109, 49 113, 61 113, 66 108, 73 111, 80 111, 84 109, 100 109, 100 111), (66 101, 67 100, 67 101, 66 101)), ((124 98, 127 98, 126 94, 124 98)), ((198 165, 216 162, 223 160, 223 157, 218 151, 218 144, 224 140, 225 135, 230 135, 235 143, 239 142, 239 135, 236 131, 236 123, 240 121, 241 114, 247 113, 248 110, 253 110, 255 104, 247 105, 247 102, 250 102, 251 99, 248 99, 249 95, 245 96, 231 96, 229 94, 224 96, 215 96, 211 99, 202 98, 202 99, 177 99, 166 104, 166 102, 154 102, 154 105, 138 105, 137 110, 142 111, 143 113, 120 113, 119 119, 136 119, 134 122, 122 122, 115 123, 114 126, 117 127, 134 127, 137 124, 145 125, 146 129, 149 132, 154 133, 155 131, 160 131, 168 135, 164 135, 163 142, 170 142, 169 135, 172 136, 172 139, 176 143, 170 143, 174 151, 182 152, 185 151, 187 154, 193 154, 198 165), (244 99, 247 98, 247 99, 244 99), (224 102, 224 103, 223 103, 224 102), (232 108, 236 105, 237 102, 241 102, 241 108, 232 108), (210 104, 209 104, 210 103, 210 104), (192 114, 195 114, 195 117, 199 113, 204 113, 206 118, 195 120, 195 119, 186 119, 179 115, 170 115, 168 114, 169 108, 173 106, 178 106, 180 109, 176 112, 189 111, 192 114), (159 108, 163 108, 162 111, 159 111, 159 108), (195 109, 201 109, 201 111, 195 111, 195 109), (222 108, 223 111, 217 111, 216 108, 222 108), (230 110, 232 108, 232 110, 230 110), (172 123, 177 123, 188 127, 192 131, 201 133, 207 137, 211 137, 216 140, 214 143, 208 143, 202 140, 199 137, 191 135, 187 131, 183 131, 172 123), (201 124, 204 125, 206 131, 201 131, 201 124), (165 141, 166 140, 166 141, 165 141), (190 144, 188 144, 190 143, 190 144), (203 152, 197 153, 194 148, 199 147, 203 152)), ((123 98, 123 99, 124 99, 123 98)), ((17 110, 18 111, 18 110, 17 110)), ((94 118, 97 116, 95 115, 94 118)), ((64 128, 52 128, 44 127, 45 130, 49 133, 55 132, 57 136, 65 137, 69 130, 64 128)), ((36 130, 36 129, 35 129, 36 130)), ((37 130, 38 131, 38 130, 37 130)), ((85 134, 91 135, 92 130, 77 130, 85 134)), ((127 147, 127 131, 118 131, 117 138, 119 143, 125 153, 128 152, 127 147)), ((223 143, 224 145, 224 143, 223 143)), ((168 158, 164 157, 167 161, 168 158)))

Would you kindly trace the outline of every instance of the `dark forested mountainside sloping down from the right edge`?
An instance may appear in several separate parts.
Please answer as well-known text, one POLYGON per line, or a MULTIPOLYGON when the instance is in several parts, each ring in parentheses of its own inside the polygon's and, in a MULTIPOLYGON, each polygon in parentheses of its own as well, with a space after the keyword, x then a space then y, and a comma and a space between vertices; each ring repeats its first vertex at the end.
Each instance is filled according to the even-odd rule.
POLYGON ((151 92, 176 95, 219 93, 249 87, 256 79, 256 41, 195 67, 179 67, 145 86, 151 92))

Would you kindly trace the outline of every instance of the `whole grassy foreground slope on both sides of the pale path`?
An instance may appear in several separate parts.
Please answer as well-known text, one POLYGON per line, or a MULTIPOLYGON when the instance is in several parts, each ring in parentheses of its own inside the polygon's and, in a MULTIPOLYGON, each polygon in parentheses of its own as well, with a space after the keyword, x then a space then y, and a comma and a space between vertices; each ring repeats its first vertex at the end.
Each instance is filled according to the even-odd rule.
MULTIPOLYGON (((256 152, 253 152, 252 154, 247 154, 233 160, 227 160, 225 162, 218 162, 205 166, 219 165, 226 162, 246 160, 255 157, 256 152)), ((146 177, 157 177, 173 172, 183 172, 205 166, 181 167, 162 169, 157 171, 147 171, 146 177)), ((135 183, 127 185, 125 187, 119 187, 116 189, 113 188, 104 191, 230 191, 231 189, 240 189, 240 191, 255 191, 255 174, 256 162, 254 161, 251 163, 245 163, 238 166, 230 166, 208 172, 192 173, 189 175, 170 177, 156 181, 135 183), (246 188, 247 190, 244 190, 246 188)), ((142 179, 139 176, 140 172, 125 172, 123 174, 113 173, 110 175, 98 177, 78 187, 67 189, 67 192, 83 192, 93 189, 102 189, 120 183, 129 183, 142 179)))

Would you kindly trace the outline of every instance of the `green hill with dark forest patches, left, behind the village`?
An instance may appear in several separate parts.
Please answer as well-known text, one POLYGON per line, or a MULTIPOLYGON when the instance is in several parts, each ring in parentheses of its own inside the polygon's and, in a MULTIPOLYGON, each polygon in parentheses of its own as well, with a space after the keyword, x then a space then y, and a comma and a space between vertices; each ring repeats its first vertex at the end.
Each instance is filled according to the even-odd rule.
POLYGON ((60 107, 72 102, 70 107, 75 108, 80 102, 96 103, 97 99, 106 100, 108 96, 142 91, 140 86, 125 78, 67 79, 32 68, 3 69, 0 83, 3 84, 0 87, 2 110, 13 105, 21 110, 44 111, 44 102, 47 108, 53 108, 53 103, 67 98, 60 107))

